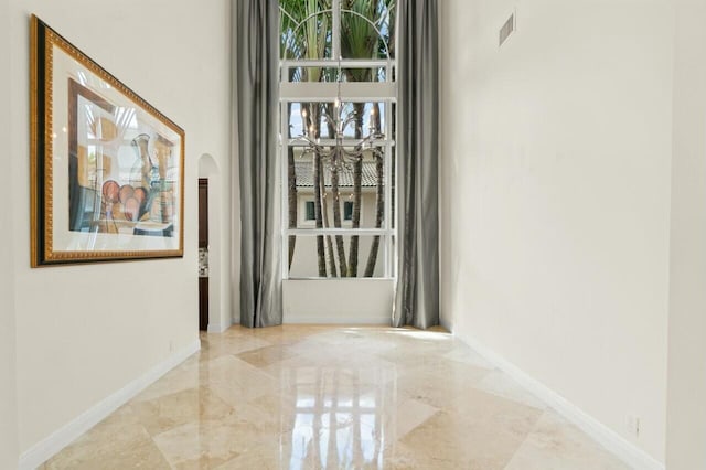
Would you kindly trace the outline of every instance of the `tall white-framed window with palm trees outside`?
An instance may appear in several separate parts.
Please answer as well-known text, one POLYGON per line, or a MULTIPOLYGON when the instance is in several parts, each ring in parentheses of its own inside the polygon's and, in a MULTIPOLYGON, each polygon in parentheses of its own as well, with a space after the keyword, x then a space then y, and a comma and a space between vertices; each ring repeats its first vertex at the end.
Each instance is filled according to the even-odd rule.
POLYGON ((285 277, 394 277, 396 1, 279 4, 285 277))

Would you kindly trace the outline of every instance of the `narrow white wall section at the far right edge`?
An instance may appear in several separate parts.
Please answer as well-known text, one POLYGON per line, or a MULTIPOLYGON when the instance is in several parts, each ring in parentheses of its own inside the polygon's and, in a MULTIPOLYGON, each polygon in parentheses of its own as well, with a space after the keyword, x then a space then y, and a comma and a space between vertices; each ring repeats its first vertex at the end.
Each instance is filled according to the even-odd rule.
POLYGON ((706 3, 676 3, 666 461, 691 470, 706 468, 706 3))

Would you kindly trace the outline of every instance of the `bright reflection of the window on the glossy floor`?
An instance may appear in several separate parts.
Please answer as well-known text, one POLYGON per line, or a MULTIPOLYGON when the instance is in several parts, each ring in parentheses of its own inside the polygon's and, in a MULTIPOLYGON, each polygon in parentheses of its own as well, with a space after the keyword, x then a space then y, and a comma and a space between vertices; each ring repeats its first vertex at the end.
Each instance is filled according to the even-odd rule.
POLYGON ((306 367, 290 372, 296 415, 289 468, 376 467, 387 439, 396 438, 396 404, 388 403, 395 396, 395 381, 387 380, 394 371, 306 367))

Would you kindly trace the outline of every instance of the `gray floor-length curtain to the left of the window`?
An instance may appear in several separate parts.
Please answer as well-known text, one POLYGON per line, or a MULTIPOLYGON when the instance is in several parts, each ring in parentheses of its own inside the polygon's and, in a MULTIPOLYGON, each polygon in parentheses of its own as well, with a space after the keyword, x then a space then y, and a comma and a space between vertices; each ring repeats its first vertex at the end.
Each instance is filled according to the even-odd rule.
POLYGON ((282 322, 278 178, 277 0, 238 0, 235 15, 240 170, 240 324, 282 322))

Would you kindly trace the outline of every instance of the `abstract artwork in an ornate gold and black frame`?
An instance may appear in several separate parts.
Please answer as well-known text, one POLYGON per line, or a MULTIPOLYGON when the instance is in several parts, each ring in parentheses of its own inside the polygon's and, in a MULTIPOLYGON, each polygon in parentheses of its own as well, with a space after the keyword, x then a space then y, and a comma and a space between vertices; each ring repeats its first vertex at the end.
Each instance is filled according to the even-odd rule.
POLYGON ((32 267, 183 256, 184 131, 31 19, 32 267))

